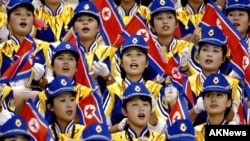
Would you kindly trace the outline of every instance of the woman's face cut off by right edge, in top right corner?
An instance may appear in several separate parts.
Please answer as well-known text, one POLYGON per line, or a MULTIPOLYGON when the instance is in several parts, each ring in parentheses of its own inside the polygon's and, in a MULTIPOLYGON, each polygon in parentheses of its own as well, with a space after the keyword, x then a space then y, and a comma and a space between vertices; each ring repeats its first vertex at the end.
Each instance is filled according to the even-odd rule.
POLYGON ((245 37, 250 26, 250 19, 247 11, 232 10, 227 14, 228 19, 237 28, 240 34, 245 37))

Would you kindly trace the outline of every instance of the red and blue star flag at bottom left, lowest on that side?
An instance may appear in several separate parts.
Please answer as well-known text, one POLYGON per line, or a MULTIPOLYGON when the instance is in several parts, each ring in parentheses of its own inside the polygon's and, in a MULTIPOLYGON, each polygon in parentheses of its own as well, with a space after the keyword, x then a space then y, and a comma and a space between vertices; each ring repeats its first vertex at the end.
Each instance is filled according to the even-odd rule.
POLYGON ((24 117, 30 134, 37 141, 53 141, 48 123, 38 114, 32 100, 29 99, 20 114, 24 117))

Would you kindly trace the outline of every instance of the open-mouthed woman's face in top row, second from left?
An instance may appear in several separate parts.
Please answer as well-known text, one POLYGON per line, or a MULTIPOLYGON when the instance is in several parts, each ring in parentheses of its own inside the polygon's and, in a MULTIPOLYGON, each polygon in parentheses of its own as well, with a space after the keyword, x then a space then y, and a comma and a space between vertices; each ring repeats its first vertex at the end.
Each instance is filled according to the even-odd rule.
POLYGON ((79 16, 74 23, 74 30, 78 32, 80 39, 95 40, 97 33, 100 31, 98 21, 88 15, 79 16))

